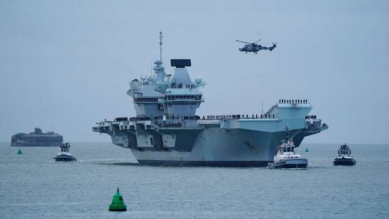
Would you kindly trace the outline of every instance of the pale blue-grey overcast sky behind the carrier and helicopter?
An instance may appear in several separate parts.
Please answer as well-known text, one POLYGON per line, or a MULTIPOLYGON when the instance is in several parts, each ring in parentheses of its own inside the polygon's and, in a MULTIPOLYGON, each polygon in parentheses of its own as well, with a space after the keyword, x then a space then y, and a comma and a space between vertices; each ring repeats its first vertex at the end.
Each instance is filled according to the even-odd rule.
POLYGON ((191 58, 206 114, 308 99, 329 129, 303 143, 388 144, 389 1, 0 0, 0 141, 35 127, 108 142, 95 122, 134 116, 129 81, 191 58), (258 55, 234 40, 278 42, 258 55))

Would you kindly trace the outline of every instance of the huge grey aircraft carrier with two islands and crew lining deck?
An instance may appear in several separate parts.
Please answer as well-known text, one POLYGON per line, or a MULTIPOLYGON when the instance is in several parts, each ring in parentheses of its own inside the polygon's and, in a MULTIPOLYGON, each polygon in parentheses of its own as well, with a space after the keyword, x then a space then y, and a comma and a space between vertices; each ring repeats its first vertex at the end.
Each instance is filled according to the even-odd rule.
POLYGON ((110 135, 113 144, 130 149, 140 164, 266 166, 285 137, 286 125, 295 146, 328 128, 321 119, 308 116, 312 105, 305 99, 279 99, 260 115, 200 117, 195 112, 205 101, 200 89, 206 83, 201 77, 191 79, 190 59, 171 59, 175 70, 166 74, 162 33, 159 45, 154 74, 129 83, 127 95, 133 99, 136 116, 92 127, 110 135))

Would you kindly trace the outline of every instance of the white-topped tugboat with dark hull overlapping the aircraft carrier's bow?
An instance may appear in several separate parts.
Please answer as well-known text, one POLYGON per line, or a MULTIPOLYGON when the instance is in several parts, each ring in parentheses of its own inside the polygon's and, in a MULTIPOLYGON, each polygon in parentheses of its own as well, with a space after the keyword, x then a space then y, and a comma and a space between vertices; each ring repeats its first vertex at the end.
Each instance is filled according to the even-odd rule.
POLYGON ((282 141, 282 144, 277 147, 276 156, 274 156, 274 162, 267 164, 268 168, 272 169, 305 169, 308 166, 308 160, 301 158, 301 156, 295 152, 295 145, 292 140, 288 138, 288 126, 286 125, 286 138, 282 141))

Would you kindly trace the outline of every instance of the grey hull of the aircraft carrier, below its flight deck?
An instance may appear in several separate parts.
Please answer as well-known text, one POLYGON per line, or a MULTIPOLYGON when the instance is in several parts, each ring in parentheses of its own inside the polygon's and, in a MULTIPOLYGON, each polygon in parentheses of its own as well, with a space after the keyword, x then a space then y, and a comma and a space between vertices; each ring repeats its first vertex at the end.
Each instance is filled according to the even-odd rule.
MULTIPOLYGON (((197 120, 199 126, 196 128, 160 128, 156 125, 158 128, 150 126, 150 129, 141 130, 126 128, 130 124, 134 124, 134 127, 138 124, 139 127, 146 121, 112 121, 101 122, 93 130, 109 134, 113 144, 131 149, 140 164, 265 167, 273 162, 277 144, 283 140, 285 131, 282 128, 261 131, 249 127, 267 128, 272 123, 276 129, 285 123, 291 127, 292 121, 285 120, 197 120), (242 124, 248 127, 236 127, 242 124)), ((290 135, 296 139, 296 146, 301 144, 304 137, 327 128, 320 120, 311 124, 311 121, 302 119, 299 123, 300 128, 290 131, 290 135)))

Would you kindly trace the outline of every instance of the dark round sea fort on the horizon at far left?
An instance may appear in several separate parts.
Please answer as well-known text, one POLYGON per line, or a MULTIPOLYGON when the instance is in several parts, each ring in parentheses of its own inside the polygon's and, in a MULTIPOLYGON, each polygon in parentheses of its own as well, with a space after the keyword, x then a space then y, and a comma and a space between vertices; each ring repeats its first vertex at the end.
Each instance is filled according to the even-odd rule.
POLYGON ((11 137, 12 147, 58 147, 62 142, 62 135, 53 131, 43 133, 40 128, 35 128, 34 132, 18 133, 11 137))

